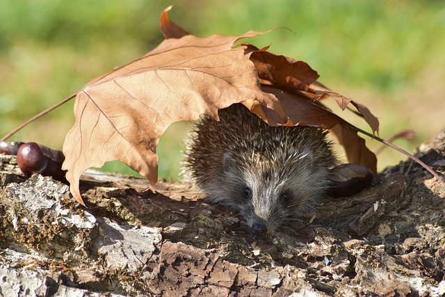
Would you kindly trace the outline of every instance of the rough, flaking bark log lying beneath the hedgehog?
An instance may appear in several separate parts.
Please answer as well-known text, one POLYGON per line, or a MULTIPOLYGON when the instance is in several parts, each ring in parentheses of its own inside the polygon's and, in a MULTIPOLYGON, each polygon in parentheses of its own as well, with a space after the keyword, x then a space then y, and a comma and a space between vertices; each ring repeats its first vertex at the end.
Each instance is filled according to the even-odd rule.
MULTIPOLYGON (((445 131, 418 156, 445 168, 445 131)), ((65 184, 0 156, 0 296, 443 296, 445 188, 406 161, 277 234, 188 184, 89 171, 65 184)))

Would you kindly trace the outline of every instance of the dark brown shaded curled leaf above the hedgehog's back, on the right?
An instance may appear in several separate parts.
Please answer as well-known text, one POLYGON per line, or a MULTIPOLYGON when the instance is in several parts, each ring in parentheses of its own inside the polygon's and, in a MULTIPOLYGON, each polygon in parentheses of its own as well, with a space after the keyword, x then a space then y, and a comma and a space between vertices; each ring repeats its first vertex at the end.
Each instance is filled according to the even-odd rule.
MULTIPOLYGON (((246 51, 250 53, 250 60, 257 68, 261 83, 267 85, 262 89, 277 97, 280 105, 286 111, 287 122, 280 120, 282 116, 278 117, 273 111, 266 111, 264 107, 254 109, 248 106, 253 113, 259 115, 271 126, 305 125, 330 129, 345 148, 350 163, 362 164, 373 172, 377 172, 377 158, 366 147, 364 139, 357 135, 359 129, 325 109, 322 104, 314 102, 330 97, 337 102, 342 110, 346 109, 349 103, 353 104, 359 115, 364 117, 375 132, 378 131, 378 119, 369 109, 318 83, 316 81, 318 79, 317 72, 312 70, 307 63, 272 54, 266 51, 267 48, 257 49, 253 45, 247 46, 246 51)), ((246 102, 244 104, 247 105, 246 102)))

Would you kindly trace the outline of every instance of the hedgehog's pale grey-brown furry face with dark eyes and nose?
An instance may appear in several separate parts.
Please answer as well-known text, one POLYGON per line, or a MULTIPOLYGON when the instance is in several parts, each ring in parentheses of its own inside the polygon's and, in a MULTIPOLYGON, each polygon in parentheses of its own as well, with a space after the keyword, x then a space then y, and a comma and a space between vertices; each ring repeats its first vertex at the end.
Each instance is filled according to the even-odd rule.
POLYGON ((239 168, 230 160, 227 156, 224 161, 229 198, 232 207, 239 211, 255 235, 289 223, 321 194, 314 180, 320 177, 307 175, 307 168, 295 170, 293 166, 293 170, 289 170, 286 166, 267 164, 239 168))

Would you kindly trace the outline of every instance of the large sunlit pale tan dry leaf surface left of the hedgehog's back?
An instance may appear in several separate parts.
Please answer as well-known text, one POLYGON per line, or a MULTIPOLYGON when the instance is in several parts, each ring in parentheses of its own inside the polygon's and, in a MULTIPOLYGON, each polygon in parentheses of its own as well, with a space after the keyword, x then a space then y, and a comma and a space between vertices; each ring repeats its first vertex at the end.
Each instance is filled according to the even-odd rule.
POLYGON ((80 90, 76 121, 63 145, 63 168, 76 200, 83 204, 82 172, 106 161, 122 161, 156 183, 156 145, 172 122, 202 113, 217 118, 218 109, 248 99, 273 105, 275 97, 261 92, 245 47, 232 49, 236 40, 259 34, 170 38, 80 90))

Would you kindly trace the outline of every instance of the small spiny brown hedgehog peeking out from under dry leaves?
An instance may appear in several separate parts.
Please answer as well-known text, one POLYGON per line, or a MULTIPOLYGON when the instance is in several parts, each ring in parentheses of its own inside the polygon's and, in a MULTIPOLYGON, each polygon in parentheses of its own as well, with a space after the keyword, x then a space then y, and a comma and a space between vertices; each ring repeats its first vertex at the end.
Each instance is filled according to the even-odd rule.
POLYGON ((241 214, 255 236, 297 220, 332 182, 337 163, 327 132, 315 127, 270 127, 243 104, 201 118, 184 163, 214 204, 241 214))

